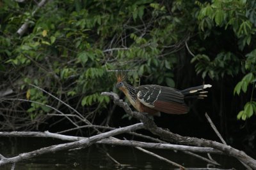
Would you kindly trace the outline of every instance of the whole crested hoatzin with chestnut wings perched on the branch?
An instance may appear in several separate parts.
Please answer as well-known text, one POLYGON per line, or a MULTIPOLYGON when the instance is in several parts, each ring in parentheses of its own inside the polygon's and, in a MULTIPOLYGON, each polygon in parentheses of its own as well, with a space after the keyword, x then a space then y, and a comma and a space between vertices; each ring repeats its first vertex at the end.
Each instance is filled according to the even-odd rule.
POLYGON ((160 85, 141 85, 132 87, 125 80, 124 76, 117 76, 116 88, 122 90, 129 102, 140 112, 160 116, 160 111, 169 114, 188 113, 189 107, 184 99, 204 99, 207 97, 204 89, 212 85, 200 85, 185 90, 177 90, 171 87, 160 85))

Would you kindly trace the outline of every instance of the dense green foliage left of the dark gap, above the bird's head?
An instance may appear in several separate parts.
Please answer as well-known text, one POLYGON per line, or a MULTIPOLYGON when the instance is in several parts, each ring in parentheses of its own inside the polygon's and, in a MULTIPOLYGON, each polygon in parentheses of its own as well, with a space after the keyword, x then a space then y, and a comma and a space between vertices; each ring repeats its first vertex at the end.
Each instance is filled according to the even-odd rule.
MULTIPOLYGON (((63 101, 76 99, 75 108, 95 113, 109 103, 100 92, 115 90, 115 74, 108 69, 134 69, 127 76, 134 85, 143 80, 175 87, 177 52, 196 27, 187 10, 195 4, 185 1, 58 0, 47 1, 35 13, 34 1, 4 0, 1 5, 4 84, 15 84, 21 94, 30 91, 29 99, 36 102, 53 103, 30 89, 32 83, 63 101), (19 36, 15 32, 24 22, 28 31, 19 36)), ((48 111, 35 103, 27 110, 33 118, 48 111)))

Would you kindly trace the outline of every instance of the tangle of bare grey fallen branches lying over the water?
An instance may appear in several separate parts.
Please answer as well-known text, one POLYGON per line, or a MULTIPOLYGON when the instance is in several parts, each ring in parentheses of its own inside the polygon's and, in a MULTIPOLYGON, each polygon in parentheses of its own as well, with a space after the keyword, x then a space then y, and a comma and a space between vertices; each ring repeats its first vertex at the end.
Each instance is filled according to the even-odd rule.
MULTIPOLYGON (((38 88, 38 87, 36 87, 38 88)), ((40 88, 38 88, 40 89, 40 88)), ((40 89, 43 90, 43 89, 40 89)), ((43 90, 44 91, 44 90, 43 90)), ((45 91, 44 91, 45 92, 45 91)), ((47 92, 46 92, 47 93, 47 92)), ((48 93, 47 93, 48 94, 48 93)), ((52 96, 51 94, 49 94, 52 96)), ((129 108, 129 105, 127 103, 124 103, 124 101, 120 100, 117 94, 113 92, 103 92, 102 95, 110 96, 113 98, 113 101, 118 106, 121 106, 124 108, 125 112, 129 114, 131 117, 137 118, 142 123, 140 124, 134 124, 127 127, 120 127, 120 128, 113 128, 113 127, 105 127, 105 126, 99 126, 99 125, 93 125, 86 118, 83 117, 80 113, 78 113, 74 108, 71 108, 75 111, 76 115, 67 115, 64 113, 61 113, 58 111, 58 109, 55 108, 55 110, 60 113, 58 116, 62 116, 67 118, 72 124, 75 125, 72 129, 67 129, 62 132, 58 133, 51 133, 51 132, 0 132, 0 136, 24 136, 24 137, 41 137, 41 138, 57 138, 62 139, 65 141, 68 141, 68 143, 60 144, 60 145, 52 145, 45 148, 40 148, 39 150, 35 150, 33 152, 28 153, 21 153, 15 157, 6 158, 4 155, 0 154, 0 167, 4 164, 12 164, 12 169, 15 169, 15 162, 20 162, 22 160, 31 159, 32 157, 36 157, 38 155, 42 155, 44 153, 52 153, 60 150, 71 150, 76 148, 84 148, 88 147, 90 145, 93 145, 94 143, 98 144, 105 144, 105 145, 120 145, 120 146, 132 146, 141 152, 147 153, 149 155, 152 155, 156 157, 157 159, 163 160, 165 162, 168 162, 169 164, 172 164, 173 166, 179 167, 180 169, 187 169, 184 166, 181 166, 180 164, 177 164, 176 162, 173 162, 172 160, 168 160, 164 157, 161 157, 160 155, 157 155, 153 152, 148 152, 145 150, 145 148, 154 148, 154 149, 164 149, 164 150, 178 150, 184 153, 187 153, 189 155, 192 155, 193 157, 205 160, 206 162, 209 162, 212 165, 220 165, 218 162, 211 159, 211 156, 209 155, 209 159, 202 157, 200 155, 197 155, 197 153, 214 153, 214 154, 221 154, 221 155, 229 155, 232 157, 237 158, 240 160, 244 166, 247 169, 256 169, 256 160, 252 159, 246 153, 236 150, 235 148, 232 148, 231 146, 228 146, 226 144, 218 143, 216 141, 210 141, 206 139, 198 139, 198 138, 190 138, 190 137, 184 137, 179 136, 178 134, 173 134, 172 132, 162 129, 161 127, 157 127, 154 121, 147 116, 147 114, 138 113, 136 111, 132 111, 131 108, 129 108), (77 125, 76 122, 70 120, 69 117, 78 118, 81 121, 84 122, 86 125, 77 125), (84 138, 84 137, 77 137, 77 136, 66 136, 60 133, 67 132, 67 131, 73 131, 77 130, 79 128, 93 128, 96 132, 99 134, 95 136, 91 136, 90 138, 84 138), (108 132, 100 132, 99 129, 109 130, 108 132), (147 129, 148 131, 152 132, 153 134, 156 134, 161 139, 152 138, 150 136, 145 136, 143 134, 138 134, 136 131, 138 129, 147 129), (116 134, 122 134, 122 133, 128 133, 136 136, 140 136, 141 138, 150 139, 151 141, 154 141, 154 143, 148 143, 148 142, 141 142, 141 141, 132 141, 132 140, 121 140, 117 138, 113 138, 112 136, 115 136, 116 134), (178 145, 173 145, 170 143, 167 143, 166 141, 177 143, 178 145), (189 146, 188 146, 189 145, 189 146)), ((55 96, 52 96, 55 99, 59 100, 55 96)), ((33 102, 33 101, 30 101, 33 102)), ((63 101, 60 101, 63 103, 63 101)), ((65 104, 65 103, 63 103, 65 104)), ((68 108, 68 104, 65 104, 68 108)), ((53 108, 52 106, 50 106, 53 108)), ((51 114, 50 114, 51 115, 51 114)), ((56 116, 56 115, 51 115, 56 116)), ((209 119, 208 119, 209 120, 209 119)), ((213 123, 212 123, 213 124, 213 123)), ((214 128, 213 128, 214 129, 214 128)), ((214 130, 217 131, 217 130, 214 130)), ((220 134, 219 134, 220 135, 220 134)), ((221 136, 220 136, 221 138, 221 136)), ((116 161, 113 157, 111 157, 108 153, 109 159, 116 161)), ((118 162, 118 164, 120 164, 118 162)), ((122 165, 122 164, 120 164, 122 165)), ((189 169, 189 168, 188 168, 189 169)))

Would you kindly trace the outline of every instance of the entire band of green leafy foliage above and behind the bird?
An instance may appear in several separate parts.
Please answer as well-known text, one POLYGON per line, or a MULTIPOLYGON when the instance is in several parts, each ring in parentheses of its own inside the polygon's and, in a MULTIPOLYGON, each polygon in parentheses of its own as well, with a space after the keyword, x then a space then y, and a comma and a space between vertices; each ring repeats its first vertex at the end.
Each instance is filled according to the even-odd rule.
MULTIPOLYGON (((142 81, 175 87, 174 71, 188 59, 188 42, 195 53, 191 62, 203 79, 243 77, 234 94, 253 93, 255 2, 56 0, 33 13, 34 1, 3 0, 1 80, 23 97, 33 83, 76 103, 72 106, 80 111, 100 113, 109 103, 100 92, 115 91, 109 69, 133 69, 127 73, 133 85, 142 81), (19 36, 16 32, 24 22, 28 31, 19 36)), ((32 92, 29 99, 53 103, 42 92, 32 92)), ((33 118, 47 111, 38 104, 28 108, 33 118)), ((246 119, 251 113, 246 106, 239 114, 246 119)))

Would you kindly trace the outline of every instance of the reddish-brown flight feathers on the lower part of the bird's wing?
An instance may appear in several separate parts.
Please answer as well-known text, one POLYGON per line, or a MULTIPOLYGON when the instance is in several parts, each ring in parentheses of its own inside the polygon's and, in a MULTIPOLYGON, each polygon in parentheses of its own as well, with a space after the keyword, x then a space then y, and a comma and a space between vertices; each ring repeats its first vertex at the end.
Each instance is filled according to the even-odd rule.
POLYGON ((186 104, 157 100, 154 103, 154 110, 169 114, 185 114, 188 113, 189 107, 186 104))

